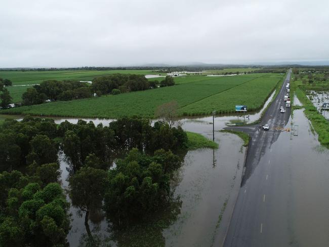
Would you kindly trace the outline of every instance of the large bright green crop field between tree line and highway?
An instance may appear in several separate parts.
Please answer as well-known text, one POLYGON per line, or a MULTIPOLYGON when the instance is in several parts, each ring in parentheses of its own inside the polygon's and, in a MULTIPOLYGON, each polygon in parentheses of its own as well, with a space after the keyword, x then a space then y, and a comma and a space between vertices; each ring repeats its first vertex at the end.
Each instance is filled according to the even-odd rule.
POLYGON ((173 100, 178 102, 180 115, 207 115, 213 110, 218 113, 234 112, 235 104, 245 104, 250 110, 256 110, 261 108, 283 77, 271 75, 196 76, 199 79, 191 76, 185 78, 189 82, 173 87, 17 107, 0 113, 104 118, 133 115, 153 117, 158 105, 173 100))

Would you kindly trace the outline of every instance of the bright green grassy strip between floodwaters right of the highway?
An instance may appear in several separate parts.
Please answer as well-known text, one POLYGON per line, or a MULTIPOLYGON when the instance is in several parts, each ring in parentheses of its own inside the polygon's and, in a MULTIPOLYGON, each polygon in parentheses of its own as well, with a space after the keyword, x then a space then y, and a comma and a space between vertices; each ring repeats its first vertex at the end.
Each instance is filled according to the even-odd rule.
MULTIPOLYGON (((306 117, 311 121, 315 132, 318 134, 318 140, 321 145, 329 148, 329 121, 327 121, 315 108, 312 102, 307 98, 300 87, 295 87, 295 93, 303 104, 306 117)), ((293 109, 296 109, 294 107, 293 109)))

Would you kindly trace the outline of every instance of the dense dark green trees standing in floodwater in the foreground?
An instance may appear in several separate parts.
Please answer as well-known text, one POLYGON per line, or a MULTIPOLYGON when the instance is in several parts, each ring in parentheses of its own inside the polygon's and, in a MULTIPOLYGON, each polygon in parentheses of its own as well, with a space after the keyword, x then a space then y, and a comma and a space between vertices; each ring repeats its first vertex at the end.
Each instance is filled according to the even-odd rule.
POLYGON ((69 163, 72 205, 86 213, 93 241, 88 225, 92 210, 103 209, 121 228, 170 203, 170 179, 186 145, 180 127, 162 121, 151 125, 138 117, 106 127, 83 120, 56 125, 52 119, 29 116, 6 120, 0 126, 0 245, 67 243, 69 204, 59 184, 59 151, 69 163))

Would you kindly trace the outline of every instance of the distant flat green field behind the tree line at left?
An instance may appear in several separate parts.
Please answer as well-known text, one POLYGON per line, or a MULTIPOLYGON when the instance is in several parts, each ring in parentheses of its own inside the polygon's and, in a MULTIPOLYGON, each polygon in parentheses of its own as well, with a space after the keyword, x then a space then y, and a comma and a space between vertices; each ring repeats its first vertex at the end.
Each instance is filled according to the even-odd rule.
POLYGON ((0 78, 10 79, 13 85, 30 85, 39 84, 43 80, 55 79, 76 79, 76 80, 92 80, 95 77, 114 74, 157 74, 152 70, 58 70, 58 71, 2 71, 0 70, 0 78))

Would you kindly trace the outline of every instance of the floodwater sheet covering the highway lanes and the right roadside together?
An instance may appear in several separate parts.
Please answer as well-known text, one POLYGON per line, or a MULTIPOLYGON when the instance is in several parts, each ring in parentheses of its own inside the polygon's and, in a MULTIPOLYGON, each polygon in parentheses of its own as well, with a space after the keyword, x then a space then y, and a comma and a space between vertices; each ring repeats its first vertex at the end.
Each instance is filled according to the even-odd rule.
POLYGON ((310 126, 295 110, 285 128, 296 131, 279 135, 241 188, 256 198, 246 237, 253 246, 329 246, 329 151, 310 126))

